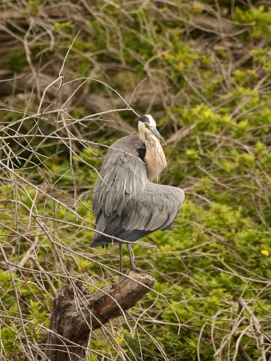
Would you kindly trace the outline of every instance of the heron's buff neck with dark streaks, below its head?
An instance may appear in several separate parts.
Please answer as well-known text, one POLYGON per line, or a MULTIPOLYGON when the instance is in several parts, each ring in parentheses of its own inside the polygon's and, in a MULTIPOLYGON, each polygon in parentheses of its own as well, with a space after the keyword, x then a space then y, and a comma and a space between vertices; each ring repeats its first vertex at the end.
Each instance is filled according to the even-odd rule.
MULTIPOLYGON (((141 135, 141 134, 140 134, 141 135)), ((144 161, 146 163, 147 178, 149 181, 158 179, 160 173, 167 168, 165 154, 159 140, 150 134, 140 137, 146 147, 144 161)))

